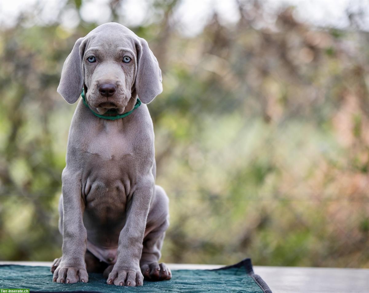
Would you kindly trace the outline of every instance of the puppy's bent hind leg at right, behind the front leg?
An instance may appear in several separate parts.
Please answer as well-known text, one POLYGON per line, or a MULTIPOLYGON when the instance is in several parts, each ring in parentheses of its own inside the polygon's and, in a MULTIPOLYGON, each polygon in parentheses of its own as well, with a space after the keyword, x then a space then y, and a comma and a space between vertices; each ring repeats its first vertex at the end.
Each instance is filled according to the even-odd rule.
POLYGON ((140 267, 146 280, 170 280, 172 273, 159 263, 165 231, 169 226, 169 199, 161 186, 155 185, 146 222, 140 267))

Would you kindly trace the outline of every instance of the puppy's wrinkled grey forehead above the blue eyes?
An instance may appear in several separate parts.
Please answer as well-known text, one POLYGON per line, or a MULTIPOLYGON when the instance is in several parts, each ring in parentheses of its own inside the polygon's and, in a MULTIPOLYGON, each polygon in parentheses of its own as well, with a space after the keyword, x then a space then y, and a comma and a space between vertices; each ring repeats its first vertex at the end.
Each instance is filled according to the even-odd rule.
POLYGON ((85 52, 89 48, 99 48, 100 51, 113 53, 126 48, 136 55, 137 43, 138 37, 124 26, 99 26, 87 34, 85 52))

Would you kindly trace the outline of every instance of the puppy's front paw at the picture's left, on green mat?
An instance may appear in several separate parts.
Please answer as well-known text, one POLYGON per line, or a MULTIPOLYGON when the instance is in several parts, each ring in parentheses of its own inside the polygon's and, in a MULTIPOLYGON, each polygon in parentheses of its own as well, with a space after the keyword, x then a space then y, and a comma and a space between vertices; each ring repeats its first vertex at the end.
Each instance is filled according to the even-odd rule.
POLYGON ((87 283, 89 275, 85 267, 63 266, 60 264, 54 271, 53 282, 56 283, 87 283))

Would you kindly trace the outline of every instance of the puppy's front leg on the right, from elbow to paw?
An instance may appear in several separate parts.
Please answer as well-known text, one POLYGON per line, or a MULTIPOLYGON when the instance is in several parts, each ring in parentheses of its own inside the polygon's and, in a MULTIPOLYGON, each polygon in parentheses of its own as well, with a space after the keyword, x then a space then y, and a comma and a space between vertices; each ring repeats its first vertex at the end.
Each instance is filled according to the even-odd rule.
POLYGON ((139 180, 139 186, 133 192, 131 205, 127 210, 127 221, 119 235, 117 262, 108 276, 108 284, 118 286, 143 284, 144 276, 139 260, 153 188, 154 177, 150 174, 139 180))

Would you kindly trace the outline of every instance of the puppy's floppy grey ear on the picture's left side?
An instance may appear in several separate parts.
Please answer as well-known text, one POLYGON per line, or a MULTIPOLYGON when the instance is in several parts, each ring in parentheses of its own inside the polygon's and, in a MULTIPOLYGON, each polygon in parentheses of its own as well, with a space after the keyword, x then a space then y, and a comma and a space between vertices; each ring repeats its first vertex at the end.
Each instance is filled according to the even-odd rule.
POLYGON ((84 39, 79 38, 76 41, 72 52, 66 58, 57 90, 69 104, 75 103, 82 92, 83 75, 81 59, 83 48, 81 44, 84 39))

